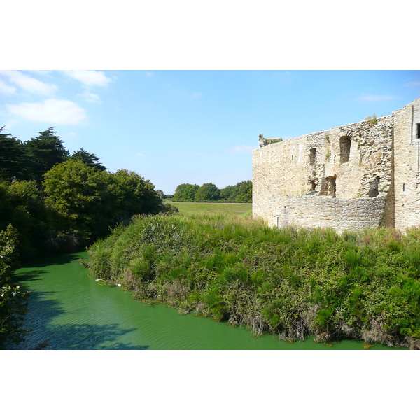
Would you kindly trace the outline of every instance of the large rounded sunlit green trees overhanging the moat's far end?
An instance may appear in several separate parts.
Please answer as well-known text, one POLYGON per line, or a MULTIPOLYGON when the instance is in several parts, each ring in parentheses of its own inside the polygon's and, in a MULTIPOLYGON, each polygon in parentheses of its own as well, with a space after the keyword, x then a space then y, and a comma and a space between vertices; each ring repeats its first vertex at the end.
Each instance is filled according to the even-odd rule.
POLYGON ((110 174, 69 159, 44 179, 46 203, 56 213, 52 227, 79 245, 106 235, 116 223, 128 223, 134 214, 163 210, 153 184, 125 169, 110 174))

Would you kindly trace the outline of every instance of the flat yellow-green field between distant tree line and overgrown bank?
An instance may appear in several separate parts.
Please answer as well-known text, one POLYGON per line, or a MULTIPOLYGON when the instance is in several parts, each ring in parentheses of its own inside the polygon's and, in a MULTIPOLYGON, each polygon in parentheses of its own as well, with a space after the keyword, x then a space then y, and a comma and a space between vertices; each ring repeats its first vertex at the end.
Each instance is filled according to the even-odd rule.
POLYGON ((251 214, 251 203, 187 203, 171 202, 183 216, 200 216, 203 214, 238 215, 251 214))

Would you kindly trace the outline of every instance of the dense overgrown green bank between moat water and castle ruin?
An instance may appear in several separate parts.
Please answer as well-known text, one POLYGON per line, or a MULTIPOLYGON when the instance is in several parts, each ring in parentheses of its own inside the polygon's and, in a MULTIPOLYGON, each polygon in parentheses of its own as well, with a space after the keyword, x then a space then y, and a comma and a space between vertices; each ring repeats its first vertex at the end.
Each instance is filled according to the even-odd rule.
POLYGON ((255 335, 420 348, 420 230, 271 229, 226 216, 136 216, 88 250, 90 272, 255 335))

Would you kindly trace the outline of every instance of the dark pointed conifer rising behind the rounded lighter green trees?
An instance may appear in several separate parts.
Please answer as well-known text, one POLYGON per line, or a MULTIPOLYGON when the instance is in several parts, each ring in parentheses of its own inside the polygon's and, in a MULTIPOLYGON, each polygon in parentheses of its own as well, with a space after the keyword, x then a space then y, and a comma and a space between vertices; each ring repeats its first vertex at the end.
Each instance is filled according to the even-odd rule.
POLYGON ((25 142, 27 159, 27 179, 41 184, 42 176, 54 165, 69 159, 70 153, 64 148, 61 137, 55 135, 52 128, 40 132, 25 142))

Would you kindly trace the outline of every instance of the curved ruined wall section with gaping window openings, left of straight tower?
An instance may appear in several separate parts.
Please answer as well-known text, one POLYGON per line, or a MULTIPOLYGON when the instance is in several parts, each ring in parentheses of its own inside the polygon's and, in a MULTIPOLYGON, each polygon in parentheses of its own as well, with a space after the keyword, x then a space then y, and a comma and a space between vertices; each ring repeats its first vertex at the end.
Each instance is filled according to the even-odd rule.
POLYGON ((393 117, 253 151, 253 215, 338 232, 393 225, 393 117))

